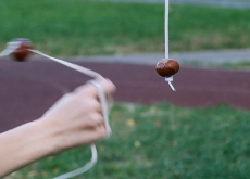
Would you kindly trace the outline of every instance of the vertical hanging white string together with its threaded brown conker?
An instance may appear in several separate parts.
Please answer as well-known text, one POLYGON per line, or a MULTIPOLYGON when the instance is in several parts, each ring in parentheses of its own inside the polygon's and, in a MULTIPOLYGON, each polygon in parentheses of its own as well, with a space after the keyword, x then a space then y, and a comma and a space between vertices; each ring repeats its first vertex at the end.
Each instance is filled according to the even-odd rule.
POLYGON ((168 82, 171 89, 176 91, 172 81, 173 75, 179 71, 178 62, 170 59, 170 35, 168 35, 168 15, 170 15, 170 2, 165 0, 165 59, 160 60, 157 63, 157 72, 160 76, 165 77, 165 81, 168 82))

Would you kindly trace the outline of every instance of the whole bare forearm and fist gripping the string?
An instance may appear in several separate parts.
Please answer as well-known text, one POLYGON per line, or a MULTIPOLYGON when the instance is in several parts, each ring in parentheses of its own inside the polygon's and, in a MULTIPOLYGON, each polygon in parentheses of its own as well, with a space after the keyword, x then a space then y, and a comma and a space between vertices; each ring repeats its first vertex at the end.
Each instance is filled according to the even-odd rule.
MULTIPOLYGON (((100 79, 105 95, 115 87, 100 79)), ((107 137, 98 91, 91 84, 63 95, 40 119, 0 133, 0 178, 42 157, 107 137)))

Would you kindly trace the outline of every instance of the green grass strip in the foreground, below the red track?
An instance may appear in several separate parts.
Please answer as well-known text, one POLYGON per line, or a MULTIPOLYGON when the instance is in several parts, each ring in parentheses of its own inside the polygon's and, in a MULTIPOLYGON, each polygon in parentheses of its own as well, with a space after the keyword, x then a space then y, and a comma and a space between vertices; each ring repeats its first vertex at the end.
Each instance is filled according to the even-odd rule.
MULTIPOLYGON (((98 143, 99 162, 78 179, 247 179, 250 113, 225 105, 185 108, 115 104, 113 135, 98 143)), ((35 163, 11 179, 47 179, 76 169, 89 148, 35 163)), ((7 179, 10 179, 7 177, 7 179)))

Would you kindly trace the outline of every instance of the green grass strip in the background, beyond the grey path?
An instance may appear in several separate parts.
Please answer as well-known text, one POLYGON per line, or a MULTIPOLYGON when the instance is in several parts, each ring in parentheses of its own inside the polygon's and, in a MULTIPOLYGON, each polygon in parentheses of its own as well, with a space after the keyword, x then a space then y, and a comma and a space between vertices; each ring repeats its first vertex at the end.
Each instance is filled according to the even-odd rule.
MULTIPOLYGON (((172 52, 250 48, 249 10, 171 5, 172 52)), ((0 48, 16 37, 53 55, 164 51, 164 5, 1 0, 0 48)))

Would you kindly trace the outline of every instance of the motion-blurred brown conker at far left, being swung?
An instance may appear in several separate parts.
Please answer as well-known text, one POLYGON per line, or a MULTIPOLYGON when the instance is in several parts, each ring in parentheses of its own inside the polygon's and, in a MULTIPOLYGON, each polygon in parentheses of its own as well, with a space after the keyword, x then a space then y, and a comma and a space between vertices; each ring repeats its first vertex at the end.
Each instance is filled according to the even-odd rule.
POLYGON ((33 49, 33 43, 30 40, 25 38, 16 38, 11 42, 20 42, 20 47, 12 52, 14 61, 24 62, 26 57, 32 53, 28 49, 33 49))

